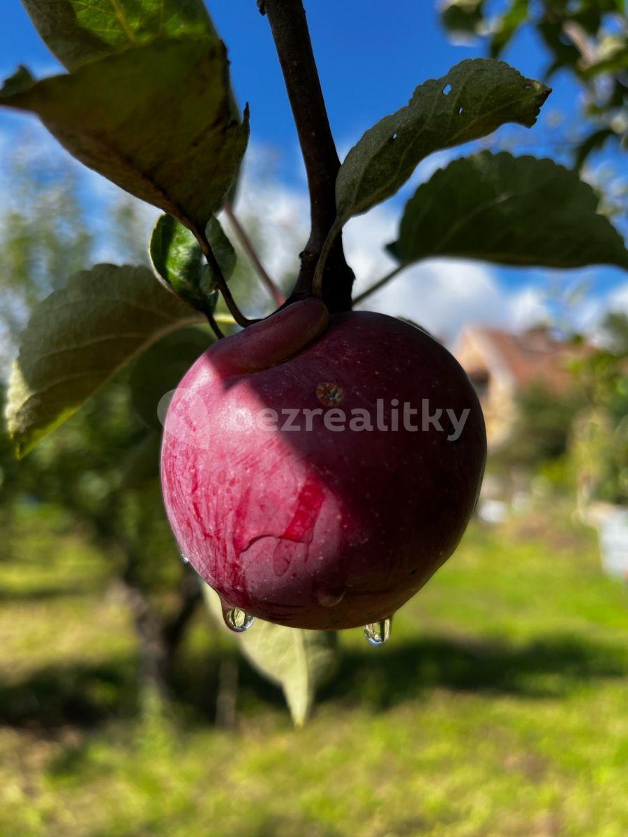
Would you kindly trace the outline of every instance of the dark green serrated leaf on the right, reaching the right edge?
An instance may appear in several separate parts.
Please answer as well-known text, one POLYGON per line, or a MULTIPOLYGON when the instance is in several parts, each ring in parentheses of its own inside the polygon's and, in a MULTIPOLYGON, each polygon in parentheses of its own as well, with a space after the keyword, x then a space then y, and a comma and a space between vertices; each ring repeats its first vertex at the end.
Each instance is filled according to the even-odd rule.
POLYGON ((451 162, 406 205, 390 251, 407 265, 430 256, 528 266, 615 264, 628 252, 599 198, 552 160, 481 151, 451 162))

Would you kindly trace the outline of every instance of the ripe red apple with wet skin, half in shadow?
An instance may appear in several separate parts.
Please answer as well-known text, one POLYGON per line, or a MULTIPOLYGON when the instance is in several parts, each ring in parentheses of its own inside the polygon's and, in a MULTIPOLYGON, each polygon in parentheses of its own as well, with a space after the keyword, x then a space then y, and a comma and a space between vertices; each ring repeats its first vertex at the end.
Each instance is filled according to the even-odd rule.
MULTIPOLYGON (((295 628, 394 614, 456 549, 486 462, 476 393, 439 342, 363 311, 326 326, 322 303, 305 300, 214 344, 172 398, 162 444, 165 506, 185 557, 225 607, 295 628), (337 432, 319 416, 308 432, 242 418, 270 408, 281 426, 284 408, 335 406, 349 418, 366 408, 374 424, 382 399, 389 425, 394 398, 471 413, 457 441, 434 427, 409 432, 403 419, 398 432, 337 432)), ((302 413, 294 424, 305 426, 302 413)))

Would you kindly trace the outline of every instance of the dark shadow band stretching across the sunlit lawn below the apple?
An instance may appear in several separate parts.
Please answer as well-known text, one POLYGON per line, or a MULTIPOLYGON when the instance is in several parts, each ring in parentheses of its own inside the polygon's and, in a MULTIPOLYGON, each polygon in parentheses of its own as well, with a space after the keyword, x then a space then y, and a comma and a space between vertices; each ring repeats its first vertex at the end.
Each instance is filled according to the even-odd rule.
MULTIPOLYGON (((214 723, 219 666, 218 656, 187 655, 174 670, 172 696, 187 721, 214 723)), ((627 674, 628 655, 619 646, 571 636, 539 637, 522 645, 431 636, 383 649, 346 650, 321 699, 379 711, 423 700, 435 688, 560 698, 588 681, 627 674)), ((49 666, 0 684, 0 724, 90 727, 136 715, 138 695, 132 656, 101 665, 49 666)), ((284 706, 281 691, 239 658, 239 711, 253 714, 270 706, 284 706)))

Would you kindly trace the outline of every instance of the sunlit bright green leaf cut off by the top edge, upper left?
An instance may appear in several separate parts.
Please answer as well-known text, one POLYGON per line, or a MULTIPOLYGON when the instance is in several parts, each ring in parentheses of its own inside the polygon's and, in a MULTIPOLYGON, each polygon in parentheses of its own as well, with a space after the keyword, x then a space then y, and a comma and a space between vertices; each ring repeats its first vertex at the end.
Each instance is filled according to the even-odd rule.
POLYGON ((22 0, 22 5, 68 69, 160 37, 217 35, 203 0, 22 0))

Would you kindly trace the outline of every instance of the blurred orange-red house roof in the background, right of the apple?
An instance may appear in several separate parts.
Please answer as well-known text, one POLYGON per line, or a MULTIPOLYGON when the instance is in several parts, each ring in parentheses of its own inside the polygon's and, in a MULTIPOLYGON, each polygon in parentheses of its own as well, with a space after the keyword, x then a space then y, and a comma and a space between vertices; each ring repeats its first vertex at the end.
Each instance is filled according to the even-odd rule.
POLYGON ((533 382, 564 389, 569 386, 569 361, 582 356, 588 347, 558 340, 546 328, 511 334, 495 328, 469 329, 456 352, 470 377, 492 374, 508 377, 517 388, 533 382), (472 352, 465 352, 465 342, 472 352))

